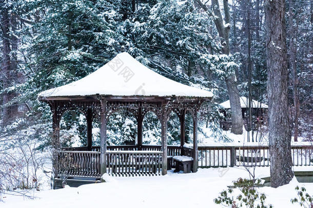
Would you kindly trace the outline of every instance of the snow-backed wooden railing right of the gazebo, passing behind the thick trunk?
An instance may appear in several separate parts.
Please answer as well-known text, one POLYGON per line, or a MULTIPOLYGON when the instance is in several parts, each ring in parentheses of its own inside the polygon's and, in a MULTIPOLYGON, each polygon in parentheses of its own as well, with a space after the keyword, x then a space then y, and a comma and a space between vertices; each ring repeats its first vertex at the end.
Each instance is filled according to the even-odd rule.
MULTIPOLYGON (((268 146, 199 146, 199 167, 269 166, 268 146)), ((313 146, 291 146, 292 165, 313 165, 313 146)))

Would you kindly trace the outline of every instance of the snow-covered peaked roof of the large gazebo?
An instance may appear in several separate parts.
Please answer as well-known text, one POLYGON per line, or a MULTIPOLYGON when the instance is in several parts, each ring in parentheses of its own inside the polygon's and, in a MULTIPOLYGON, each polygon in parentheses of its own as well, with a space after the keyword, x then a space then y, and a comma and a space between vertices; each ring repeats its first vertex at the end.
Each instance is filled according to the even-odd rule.
POLYGON ((96 96, 115 99, 188 97, 190 100, 209 100, 212 95, 209 91, 165 78, 123 52, 85 78, 43 91, 38 97, 41 100, 88 99, 96 96))

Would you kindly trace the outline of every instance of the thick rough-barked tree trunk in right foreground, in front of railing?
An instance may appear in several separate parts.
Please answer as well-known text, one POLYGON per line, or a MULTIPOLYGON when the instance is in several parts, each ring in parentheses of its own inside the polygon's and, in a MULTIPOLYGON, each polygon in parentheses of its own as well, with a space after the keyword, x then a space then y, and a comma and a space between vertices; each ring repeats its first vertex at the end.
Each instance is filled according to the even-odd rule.
POLYGON ((268 139, 271 186, 289 183, 294 177, 291 165, 291 132, 288 117, 288 70, 285 0, 265 0, 267 32, 268 139))

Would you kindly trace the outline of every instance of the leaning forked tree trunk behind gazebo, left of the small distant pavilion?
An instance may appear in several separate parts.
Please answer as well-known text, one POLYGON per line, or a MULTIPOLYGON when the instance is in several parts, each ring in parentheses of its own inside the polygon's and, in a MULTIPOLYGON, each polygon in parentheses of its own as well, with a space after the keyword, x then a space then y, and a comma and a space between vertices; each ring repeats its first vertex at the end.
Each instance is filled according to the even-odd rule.
MULTIPOLYGON (((200 0, 195 0, 196 3, 200 5, 209 15, 208 8, 204 5, 200 0)), ((221 44, 223 46, 222 53, 229 55, 229 29, 230 29, 230 15, 229 15, 229 7, 228 1, 223 0, 224 6, 224 13, 225 13, 225 25, 223 24, 223 17, 220 10, 220 5, 218 0, 212 0, 212 7, 214 13, 214 24, 218 30, 219 36, 222 37, 221 44)), ((240 97, 239 91, 237 87, 237 78, 236 75, 233 73, 229 74, 227 78, 225 78, 228 95, 229 95, 229 102, 230 102, 230 109, 231 109, 231 133, 240 135, 243 133, 243 121, 242 121, 242 114, 241 114, 241 106, 240 106, 240 97)))

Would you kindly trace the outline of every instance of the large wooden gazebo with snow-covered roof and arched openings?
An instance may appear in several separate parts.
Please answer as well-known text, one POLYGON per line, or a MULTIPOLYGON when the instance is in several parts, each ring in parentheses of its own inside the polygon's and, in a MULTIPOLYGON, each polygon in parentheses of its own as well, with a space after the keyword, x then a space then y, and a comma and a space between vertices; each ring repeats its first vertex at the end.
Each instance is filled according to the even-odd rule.
POLYGON ((147 68, 126 52, 87 77, 70 84, 43 91, 40 101, 49 104, 53 114, 53 146, 55 178, 100 178, 111 175, 166 175, 168 156, 193 158, 192 171, 198 168, 197 111, 212 93, 187 86, 147 68), (87 146, 60 147, 60 120, 68 109, 80 109, 87 121, 87 146), (138 144, 107 146, 107 121, 113 112, 128 109, 138 122, 138 144), (143 119, 154 112, 161 122, 161 146, 143 145, 143 119), (167 121, 170 112, 180 119, 180 146, 167 145, 167 121), (193 147, 184 147, 185 115, 193 118, 193 147), (92 146, 92 120, 101 120, 101 145, 92 146), (64 162, 64 159, 66 161, 64 162))

